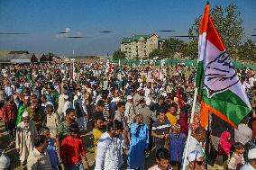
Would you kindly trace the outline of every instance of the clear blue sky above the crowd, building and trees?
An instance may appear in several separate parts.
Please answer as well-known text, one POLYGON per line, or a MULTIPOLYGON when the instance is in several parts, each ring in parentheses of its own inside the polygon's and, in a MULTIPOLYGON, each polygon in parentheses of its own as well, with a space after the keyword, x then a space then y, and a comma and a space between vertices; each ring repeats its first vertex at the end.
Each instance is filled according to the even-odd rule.
MULTIPOLYGON (((247 38, 256 40, 256 0, 209 1, 238 5, 247 38)), ((0 50, 53 52, 59 55, 106 55, 120 48, 123 37, 158 33, 161 37, 185 35, 195 18, 204 12, 203 0, 0 0, 0 50), (175 30, 175 32, 157 32, 175 30), (87 36, 86 39, 68 39, 87 36), (100 31, 114 31, 102 33, 100 31)), ((184 39, 187 40, 187 39, 184 39)))

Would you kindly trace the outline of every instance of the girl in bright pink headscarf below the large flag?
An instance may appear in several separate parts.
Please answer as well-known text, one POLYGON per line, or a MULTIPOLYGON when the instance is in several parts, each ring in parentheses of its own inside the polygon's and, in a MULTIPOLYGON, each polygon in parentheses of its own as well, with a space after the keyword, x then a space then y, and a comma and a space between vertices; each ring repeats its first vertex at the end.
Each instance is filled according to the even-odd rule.
POLYGON ((221 139, 219 141, 219 147, 218 147, 218 154, 219 155, 228 155, 230 153, 230 150, 232 148, 232 144, 229 143, 231 135, 230 132, 224 131, 221 135, 221 139))

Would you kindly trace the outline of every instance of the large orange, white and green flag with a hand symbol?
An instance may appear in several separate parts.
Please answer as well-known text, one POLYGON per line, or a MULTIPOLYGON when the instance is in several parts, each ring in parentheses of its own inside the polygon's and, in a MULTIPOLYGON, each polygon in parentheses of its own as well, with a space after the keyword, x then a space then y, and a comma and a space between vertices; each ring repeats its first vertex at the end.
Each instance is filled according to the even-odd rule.
POLYGON ((209 15, 209 4, 200 22, 197 82, 201 95, 201 125, 206 127, 212 112, 233 127, 251 111, 242 84, 209 15))

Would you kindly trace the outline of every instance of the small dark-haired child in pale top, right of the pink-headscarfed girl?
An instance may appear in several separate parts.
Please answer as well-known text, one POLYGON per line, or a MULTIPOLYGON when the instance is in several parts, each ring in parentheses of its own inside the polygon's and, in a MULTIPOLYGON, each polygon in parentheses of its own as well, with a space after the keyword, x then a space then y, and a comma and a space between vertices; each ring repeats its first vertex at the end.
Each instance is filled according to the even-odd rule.
POLYGON ((235 144, 233 145, 233 149, 234 152, 231 159, 229 160, 228 170, 238 170, 244 164, 244 146, 242 145, 242 143, 235 142, 235 144))

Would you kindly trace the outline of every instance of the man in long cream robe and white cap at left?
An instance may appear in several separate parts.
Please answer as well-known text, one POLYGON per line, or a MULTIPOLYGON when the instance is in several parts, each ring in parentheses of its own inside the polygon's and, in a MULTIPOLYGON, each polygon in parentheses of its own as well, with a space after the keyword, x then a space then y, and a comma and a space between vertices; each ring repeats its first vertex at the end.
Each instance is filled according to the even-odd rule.
POLYGON ((23 121, 17 125, 15 142, 22 166, 25 166, 29 153, 32 152, 33 139, 36 135, 35 123, 30 121, 28 112, 23 112, 23 121))

